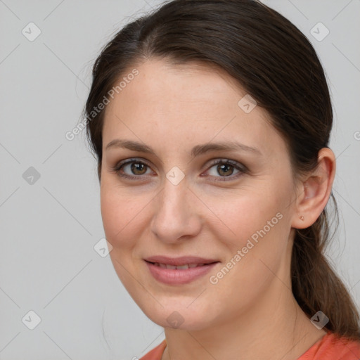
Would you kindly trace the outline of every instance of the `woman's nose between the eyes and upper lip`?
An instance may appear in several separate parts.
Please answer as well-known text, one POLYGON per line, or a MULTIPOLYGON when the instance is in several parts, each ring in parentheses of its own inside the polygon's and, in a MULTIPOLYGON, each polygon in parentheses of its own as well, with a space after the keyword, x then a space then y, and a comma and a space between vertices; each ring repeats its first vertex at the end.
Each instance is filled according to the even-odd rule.
POLYGON ((202 225, 199 203, 186 179, 177 185, 166 179, 154 199, 151 231, 164 243, 178 243, 196 236, 202 225))

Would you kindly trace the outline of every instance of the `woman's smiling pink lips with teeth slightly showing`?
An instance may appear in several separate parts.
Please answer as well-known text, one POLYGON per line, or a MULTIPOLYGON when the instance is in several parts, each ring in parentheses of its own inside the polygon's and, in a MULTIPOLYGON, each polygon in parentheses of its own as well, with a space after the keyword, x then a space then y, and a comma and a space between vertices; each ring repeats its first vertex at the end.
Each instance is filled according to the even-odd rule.
POLYGON ((157 257, 155 260, 150 261, 150 258, 144 259, 153 278, 167 285, 191 283, 205 276, 219 263, 217 260, 195 257, 162 257, 161 261, 160 257, 157 257))

